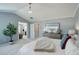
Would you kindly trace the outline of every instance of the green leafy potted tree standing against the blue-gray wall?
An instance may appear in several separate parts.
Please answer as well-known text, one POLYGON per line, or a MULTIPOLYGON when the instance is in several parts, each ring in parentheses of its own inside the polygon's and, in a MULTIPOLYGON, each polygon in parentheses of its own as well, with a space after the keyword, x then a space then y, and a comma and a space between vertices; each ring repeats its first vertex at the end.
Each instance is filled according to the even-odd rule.
POLYGON ((9 23, 6 29, 3 30, 3 34, 10 37, 10 41, 9 41, 10 43, 13 43, 12 38, 13 35, 16 34, 16 32, 17 32, 17 28, 11 23, 9 23))

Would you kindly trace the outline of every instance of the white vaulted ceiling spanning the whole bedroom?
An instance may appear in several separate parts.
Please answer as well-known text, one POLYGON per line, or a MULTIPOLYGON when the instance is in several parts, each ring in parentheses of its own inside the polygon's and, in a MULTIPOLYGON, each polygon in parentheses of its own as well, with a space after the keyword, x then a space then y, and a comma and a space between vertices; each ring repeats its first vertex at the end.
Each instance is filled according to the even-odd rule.
POLYGON ((77 3, 33 3, 32 14, 28 14, 27 3, 0 3, 0 12, 11 12, 29 21, 48 20, 73 17, 77 10, 77 3), (29 17, 33 19, 29 19, 29 17))

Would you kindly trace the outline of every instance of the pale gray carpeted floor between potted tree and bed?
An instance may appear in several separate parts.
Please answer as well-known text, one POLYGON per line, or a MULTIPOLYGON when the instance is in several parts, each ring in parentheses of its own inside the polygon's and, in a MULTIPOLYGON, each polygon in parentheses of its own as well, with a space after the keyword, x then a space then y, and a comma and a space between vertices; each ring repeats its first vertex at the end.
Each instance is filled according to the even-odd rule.
POLYGON ((22 46, 31 41, 30 39, 20 39, 13 45, 9 43, 2 44, 0 45, 0 55, 16 55, 22 46))

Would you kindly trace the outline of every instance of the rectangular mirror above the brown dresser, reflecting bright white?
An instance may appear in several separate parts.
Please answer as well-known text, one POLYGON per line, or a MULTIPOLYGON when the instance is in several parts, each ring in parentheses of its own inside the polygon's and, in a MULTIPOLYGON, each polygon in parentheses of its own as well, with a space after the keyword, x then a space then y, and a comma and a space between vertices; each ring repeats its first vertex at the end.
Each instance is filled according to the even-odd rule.
POLYGON ((43 32, 59 33, 60 32, 60 23, 47 23, 47 24, 45 24, 43 32))

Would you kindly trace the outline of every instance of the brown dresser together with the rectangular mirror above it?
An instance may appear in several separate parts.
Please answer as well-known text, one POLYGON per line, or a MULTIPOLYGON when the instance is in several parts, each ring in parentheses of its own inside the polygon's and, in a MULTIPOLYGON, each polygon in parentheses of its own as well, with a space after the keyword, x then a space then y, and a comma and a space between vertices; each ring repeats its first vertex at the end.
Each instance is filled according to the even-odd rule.
POLYGON ((59 23, 45 24, 45 27, 43 29, 43 36, 54 39, 60 39, 62 37, 60 24, 59 23))

